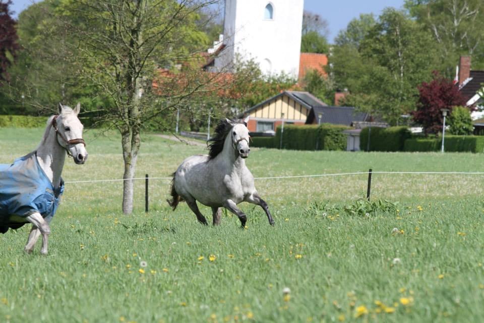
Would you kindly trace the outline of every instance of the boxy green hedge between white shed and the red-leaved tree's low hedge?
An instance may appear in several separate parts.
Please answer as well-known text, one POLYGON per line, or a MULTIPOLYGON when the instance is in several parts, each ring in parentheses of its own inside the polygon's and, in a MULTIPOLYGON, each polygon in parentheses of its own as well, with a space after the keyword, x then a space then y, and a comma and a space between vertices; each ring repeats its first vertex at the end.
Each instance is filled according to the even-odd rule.
POLYGON ((368 150, 368 133, 370 132, 370 151, 402 151, 405 140, 412 134, 407 127, 364 128, 359 135, 359 149, 368 150))

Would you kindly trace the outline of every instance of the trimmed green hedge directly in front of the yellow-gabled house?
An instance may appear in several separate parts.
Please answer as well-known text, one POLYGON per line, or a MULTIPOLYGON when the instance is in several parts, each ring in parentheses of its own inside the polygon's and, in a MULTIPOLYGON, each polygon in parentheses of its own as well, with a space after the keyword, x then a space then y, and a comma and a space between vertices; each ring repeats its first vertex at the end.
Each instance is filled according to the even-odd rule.
MULTIPOLYGON (((282 135, 282 148, 294 150, 345 150, 346 135, 343 130, 351 129, 346 126, 322 124, 284 126, 282 135)), ((275 147, 279 148, 281 142, 281 127, 277 128, 274 137, 275 147)))

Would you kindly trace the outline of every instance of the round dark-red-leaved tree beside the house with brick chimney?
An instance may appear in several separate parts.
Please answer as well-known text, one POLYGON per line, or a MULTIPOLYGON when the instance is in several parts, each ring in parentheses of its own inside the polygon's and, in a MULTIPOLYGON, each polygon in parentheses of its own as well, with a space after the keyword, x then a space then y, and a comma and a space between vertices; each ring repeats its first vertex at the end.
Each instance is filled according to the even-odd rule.
POLYGON ((423 82, 418 86, 418 92, 417 110, 411 115, 416 123, 422 125, 426 136, 442 131, 442 109, 448 109, 450 115, 454 106, 465 106, 466 103, 458 85, 442 77, 438 72, 434 72, 434 79, 431 82, 423 82))

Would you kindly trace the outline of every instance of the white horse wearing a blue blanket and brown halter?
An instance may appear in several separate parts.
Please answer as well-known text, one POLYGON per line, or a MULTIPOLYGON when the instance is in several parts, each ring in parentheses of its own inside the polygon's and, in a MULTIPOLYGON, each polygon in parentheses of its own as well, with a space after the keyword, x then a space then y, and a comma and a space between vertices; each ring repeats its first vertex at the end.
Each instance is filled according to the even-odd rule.
POLYGON ((47 254, 49 223, 64 191, 61 173, 66 152, 76 164, 86 161, 83 125, 77 117, 80 107, 78 103, 73 110, 59 103, 59 114, 48 119, 37 149, 12 165, 0 165, 0 232, 32 223, 24 249, 27 253, 42 235, 40 252, 47 254))

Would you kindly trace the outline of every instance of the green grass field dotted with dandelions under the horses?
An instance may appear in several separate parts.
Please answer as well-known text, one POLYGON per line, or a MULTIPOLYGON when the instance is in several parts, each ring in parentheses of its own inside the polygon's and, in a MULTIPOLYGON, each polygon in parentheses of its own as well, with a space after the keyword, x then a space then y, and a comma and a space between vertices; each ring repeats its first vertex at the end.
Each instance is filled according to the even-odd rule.
MULTIPOLYGON (((42 129, 0 129, 0 163, 35 148, 42 129)), ((122 178, 115 134, 85 134, 89 158, 67 159, 66 182, 122 178)), ((203 147, 143 137, 137 177, 166 177, 203 147)), ((483 172, 481 154, 252 149, 255 177, 374 171, 483 172)), ((484 317, 484 175, 375 174, 372 199, 399 202, 369 217, 314 204, 352 204, 366 175, 257 180, 276 226, 242 203, 248 229, 224 214, 203 227, 169 181, 68 183, 49 255, 23 254, 29 227, 0 235, 0 321, 472 322, 484 317), (397 228, 398 232, 393 232, 397 228), (289 288, 290 293, 283 293, 289 288)), ((201 208, 211 221, 208 208, 201 208)))

